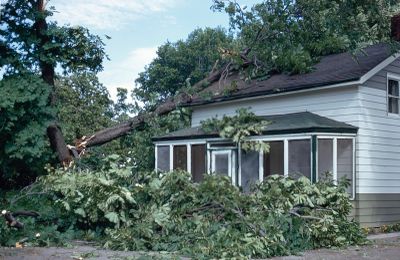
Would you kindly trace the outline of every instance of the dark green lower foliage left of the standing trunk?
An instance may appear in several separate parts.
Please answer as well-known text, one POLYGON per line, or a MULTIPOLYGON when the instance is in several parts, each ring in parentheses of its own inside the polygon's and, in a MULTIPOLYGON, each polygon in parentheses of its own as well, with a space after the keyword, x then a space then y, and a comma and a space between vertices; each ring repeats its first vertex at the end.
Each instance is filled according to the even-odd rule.
POLYGON ((46 106, 49 94, 34 75, 0 81, 0 187, 28 184, 51 161, 45 134, 55 110, 46 106))

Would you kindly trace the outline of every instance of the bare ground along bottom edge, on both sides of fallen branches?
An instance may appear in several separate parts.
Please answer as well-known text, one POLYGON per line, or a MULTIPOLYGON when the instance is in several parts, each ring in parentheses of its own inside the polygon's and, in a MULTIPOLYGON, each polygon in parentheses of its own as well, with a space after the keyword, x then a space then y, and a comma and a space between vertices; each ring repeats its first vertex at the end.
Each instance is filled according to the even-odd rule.
MULTIPOLYGON (((118 252, 103 250, 88 245, 75 245, 70 248, 0 248, 0 259, 171 259, 169 254, 118 252)), ((330 259, 400 259, 400 237, 373 240, 370 245, 347 249, 310 250, 298 256, 275 257, 274 260, 330 260, 330 259)))

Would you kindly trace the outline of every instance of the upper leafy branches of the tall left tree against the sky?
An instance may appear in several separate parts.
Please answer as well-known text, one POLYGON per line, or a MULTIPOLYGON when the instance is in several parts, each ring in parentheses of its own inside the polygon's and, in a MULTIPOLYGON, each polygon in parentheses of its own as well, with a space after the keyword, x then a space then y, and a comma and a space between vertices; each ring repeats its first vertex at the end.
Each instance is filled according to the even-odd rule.
POLYGON ((59 66, 64 73, 102 69, 104 43, 88 29, 59 26, 55 21, 47 21, 47 28, 39 29, 38 21, 51 17, 53 11, 53 7, 38 11, 37 1, 8 0, 3 4, 0 67, 6 75, 37 73, 41 62, 59 66), (49 38, 44 45, 42 34, 49 38))

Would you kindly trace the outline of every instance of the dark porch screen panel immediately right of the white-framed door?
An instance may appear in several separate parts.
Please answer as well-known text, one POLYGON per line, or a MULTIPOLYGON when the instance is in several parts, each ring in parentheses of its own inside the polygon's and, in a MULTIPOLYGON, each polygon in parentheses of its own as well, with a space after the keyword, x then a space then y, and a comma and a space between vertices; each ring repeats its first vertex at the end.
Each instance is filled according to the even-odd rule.
POLYGON ((260 154, 257 151, 241 152, 241 183, 243 191, 249 191, 251 186, 259 180, 260 154))

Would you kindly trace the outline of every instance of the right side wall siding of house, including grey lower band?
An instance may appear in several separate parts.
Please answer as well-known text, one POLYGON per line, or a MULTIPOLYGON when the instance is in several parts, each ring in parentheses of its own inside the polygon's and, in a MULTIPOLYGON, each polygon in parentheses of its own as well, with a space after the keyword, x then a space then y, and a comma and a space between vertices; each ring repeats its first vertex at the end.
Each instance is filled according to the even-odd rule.
POLYGON ((356 219, 365 226, 400 221, 400 116, 387 112, 387 74, 400 76, 400 60, 375 74, 359 89, 356 219))

